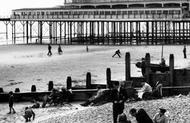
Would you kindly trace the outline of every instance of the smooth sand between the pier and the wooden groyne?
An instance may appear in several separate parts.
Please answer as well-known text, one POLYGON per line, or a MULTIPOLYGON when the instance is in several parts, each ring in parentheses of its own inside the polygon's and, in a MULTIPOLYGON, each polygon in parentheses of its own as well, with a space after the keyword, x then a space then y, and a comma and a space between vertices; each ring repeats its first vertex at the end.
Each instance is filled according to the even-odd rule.
MULTIPOLYGON (((187 46, 187 55, 190 54, 187 46)), ((20 88, 21 92, 31 90, 47 91, 47 84, 54 81, 55 86, 65 86, 67 76, 73 85, 85 84, 86 73, 91 72, 92 83, 106 83, 106 68, 111 68, 113 80, 124 80, 125 53, 131 53, 131 74, 142 76, 135 66, 146 53, 151 62, 159 63, 161 46, 62 46, 63 54, 57 54, 57 45, 52 46, 53 55, 47 56, 47 45, 10 45, 0 46, 0 87, 5 92, 20 88), (112 58, 120 49, 122 57, 112 58)), ((175 68, 189 67, 189 57, 183 59, 183 46, 164 46, 164 57, 169 64, 169 54, 175 57, 175 68)))

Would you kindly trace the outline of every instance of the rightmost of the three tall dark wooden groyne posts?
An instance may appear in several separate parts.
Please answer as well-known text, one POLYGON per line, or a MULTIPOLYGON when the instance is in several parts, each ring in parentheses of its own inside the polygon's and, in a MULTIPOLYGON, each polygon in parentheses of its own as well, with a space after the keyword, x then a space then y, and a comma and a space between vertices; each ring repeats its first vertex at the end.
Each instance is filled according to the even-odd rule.
POLYGON ((174 86, 174 55, 170 54, 170 86, 174 86))

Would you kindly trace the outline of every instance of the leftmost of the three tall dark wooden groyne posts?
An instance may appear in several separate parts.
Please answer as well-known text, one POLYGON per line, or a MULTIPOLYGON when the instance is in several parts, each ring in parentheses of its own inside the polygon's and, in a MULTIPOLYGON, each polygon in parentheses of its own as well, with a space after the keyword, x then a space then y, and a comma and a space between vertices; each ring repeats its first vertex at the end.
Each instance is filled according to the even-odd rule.
POLYGON ((125 80, 129 81, 131 78, 131 61, 130 61, 130 53, 127 52, 125 54, 125 80))

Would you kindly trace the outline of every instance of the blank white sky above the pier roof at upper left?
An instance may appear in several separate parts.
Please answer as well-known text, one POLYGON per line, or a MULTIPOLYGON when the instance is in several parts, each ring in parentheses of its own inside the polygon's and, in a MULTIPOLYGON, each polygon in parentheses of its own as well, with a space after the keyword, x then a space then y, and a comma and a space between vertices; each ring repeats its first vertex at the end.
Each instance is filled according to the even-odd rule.
POLYGON ((0 3, 0 17, 10 16, 13 9, 54 7, 63 4, 64 0, 3 0, 0 3))

